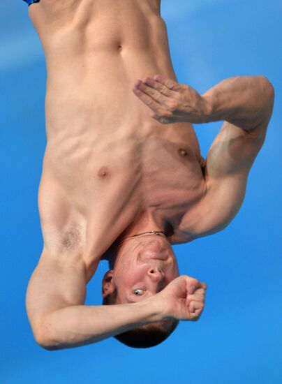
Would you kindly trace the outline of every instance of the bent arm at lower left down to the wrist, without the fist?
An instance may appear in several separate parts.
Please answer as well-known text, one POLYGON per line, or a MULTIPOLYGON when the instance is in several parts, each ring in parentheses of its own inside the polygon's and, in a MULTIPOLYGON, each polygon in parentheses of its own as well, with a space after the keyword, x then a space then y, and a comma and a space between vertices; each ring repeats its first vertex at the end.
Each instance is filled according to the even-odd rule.
POLYGON ((82 258, 43 251, 27 288, 27 314, 40 346, 55 350, 90 344, 160 318, 146 303, 134 311, 132 304, 84 306, 86 284, 82 258))

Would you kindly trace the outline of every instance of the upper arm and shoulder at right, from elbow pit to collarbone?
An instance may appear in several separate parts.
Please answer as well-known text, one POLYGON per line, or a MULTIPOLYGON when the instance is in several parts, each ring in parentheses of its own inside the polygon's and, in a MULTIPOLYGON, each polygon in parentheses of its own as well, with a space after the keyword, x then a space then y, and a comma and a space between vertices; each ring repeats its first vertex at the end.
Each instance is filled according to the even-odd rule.
POLYGON ((265 140, 267 123, 246 132, 224 122, 207 154, 205 196, 184 216, 184 232, 194 237, 211 235, 234 218, 244 200, 248 172, 265 140))

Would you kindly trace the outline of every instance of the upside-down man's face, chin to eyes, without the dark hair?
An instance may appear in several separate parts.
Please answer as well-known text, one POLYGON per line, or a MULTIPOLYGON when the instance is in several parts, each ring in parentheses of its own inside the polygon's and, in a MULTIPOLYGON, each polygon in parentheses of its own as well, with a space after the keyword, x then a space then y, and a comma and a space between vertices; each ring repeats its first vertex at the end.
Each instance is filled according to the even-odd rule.
POLYGON ((124 240, 114 269, 108 273, 110 290, 103 290, 103 296, 117 288, 116 304, 138 302, 155 295, 179 276, 170 243, 162 235, 151 234, 124 240))

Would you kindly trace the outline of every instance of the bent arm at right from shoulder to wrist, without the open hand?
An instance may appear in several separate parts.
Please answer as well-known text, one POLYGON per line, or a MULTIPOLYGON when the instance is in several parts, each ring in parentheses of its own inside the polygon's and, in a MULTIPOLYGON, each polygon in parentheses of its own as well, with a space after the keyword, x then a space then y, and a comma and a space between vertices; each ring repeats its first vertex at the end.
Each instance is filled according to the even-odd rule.
POLYGON ((188 219, 184 216, 184 229, 196 237, 222 230, 241 207, 248 172, 272 116, 274 89, 262 76, 232 77, 202 98, 209 103, 208 121, 224 122, 207 154, 205 198, 194 214, 190 212, 188 219), (195 226, 190 224, 192 216, 197 218, 195 226))

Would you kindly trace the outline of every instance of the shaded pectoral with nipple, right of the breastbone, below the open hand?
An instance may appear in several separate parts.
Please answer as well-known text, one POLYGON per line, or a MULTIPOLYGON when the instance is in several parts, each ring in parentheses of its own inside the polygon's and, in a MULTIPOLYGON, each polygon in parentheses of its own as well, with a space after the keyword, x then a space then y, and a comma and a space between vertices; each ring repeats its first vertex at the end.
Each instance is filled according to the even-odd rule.
POLYGON ((144 205, 181 216, 202 195, 205 179, 198 152, 184 140, 151 140, 142 161, 144 205))

